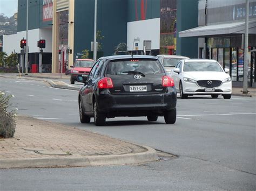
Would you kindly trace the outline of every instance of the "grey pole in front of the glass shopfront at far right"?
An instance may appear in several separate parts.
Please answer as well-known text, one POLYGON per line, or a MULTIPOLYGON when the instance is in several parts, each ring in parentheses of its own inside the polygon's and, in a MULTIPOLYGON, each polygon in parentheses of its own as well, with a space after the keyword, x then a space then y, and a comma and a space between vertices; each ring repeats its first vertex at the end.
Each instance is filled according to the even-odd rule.
POLYGON ((245 49, 244 49, 244 83, 242 93, 248 93, 248 22, 249 22, 249 0, 246 0, 246 14, 245 14, 245 49))

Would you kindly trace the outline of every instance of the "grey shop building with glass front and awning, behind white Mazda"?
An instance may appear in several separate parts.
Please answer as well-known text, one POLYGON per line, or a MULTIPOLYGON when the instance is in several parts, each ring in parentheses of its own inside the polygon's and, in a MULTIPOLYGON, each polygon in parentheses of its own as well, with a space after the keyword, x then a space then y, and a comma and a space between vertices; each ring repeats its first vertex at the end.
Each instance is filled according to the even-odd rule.
MULTIPOLYGON (((199 58, 218 60, 230 69, 233 86, 244 80, 244 0, 198 1, 198 27, 179 32, 179 37, 197 37, 199 58)), ((249 1, 248 49, 256 48, 256 0, 249 1)), ((248 84, 255 87, 255 53, 248 52, 248 84)))

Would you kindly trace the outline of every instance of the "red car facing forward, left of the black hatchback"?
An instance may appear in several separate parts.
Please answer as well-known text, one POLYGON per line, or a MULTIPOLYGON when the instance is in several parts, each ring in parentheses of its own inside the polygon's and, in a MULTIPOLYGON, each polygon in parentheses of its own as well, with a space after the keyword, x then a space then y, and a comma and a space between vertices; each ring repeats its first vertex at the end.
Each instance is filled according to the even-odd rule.
POLYGON ((77 59, 70 71, 70 83, 74 84, 78 76, 82 76, 84 80, 87 79, 91 71, 94 61, 91 59, 77 59))

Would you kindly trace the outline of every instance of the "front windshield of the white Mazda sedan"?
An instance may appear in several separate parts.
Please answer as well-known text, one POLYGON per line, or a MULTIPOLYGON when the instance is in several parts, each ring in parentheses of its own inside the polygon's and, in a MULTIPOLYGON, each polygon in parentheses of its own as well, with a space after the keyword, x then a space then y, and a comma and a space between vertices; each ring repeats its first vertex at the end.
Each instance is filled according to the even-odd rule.
POLYGON ((184 72, 223 72, 217 62, 185 62, 184 72))

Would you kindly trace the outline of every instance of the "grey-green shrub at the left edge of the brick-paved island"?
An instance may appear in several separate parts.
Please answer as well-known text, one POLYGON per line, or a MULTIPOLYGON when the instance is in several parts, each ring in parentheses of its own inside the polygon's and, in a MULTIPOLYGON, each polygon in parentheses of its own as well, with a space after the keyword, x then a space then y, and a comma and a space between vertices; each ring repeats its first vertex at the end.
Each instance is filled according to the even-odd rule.
POLYGON ((9 102, 14 95, 6 95, 0 91, 0 137, 10 138, 14 136, 16 128, 16 110, 10 110, 9 102))

